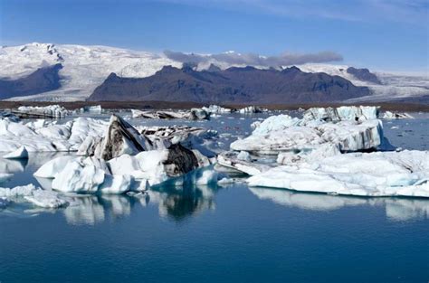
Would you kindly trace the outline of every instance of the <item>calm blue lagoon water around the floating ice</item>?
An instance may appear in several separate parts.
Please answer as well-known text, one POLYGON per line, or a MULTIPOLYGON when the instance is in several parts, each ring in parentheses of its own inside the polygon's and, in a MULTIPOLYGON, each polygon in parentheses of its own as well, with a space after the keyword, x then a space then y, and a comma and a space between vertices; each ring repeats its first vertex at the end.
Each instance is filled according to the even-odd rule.
MULTIPOLYGON (((396 146, 427 149, 429 119, 414 115, 418 118, 384 121, 386 137, 396 146)), ((226 147, 263 116, 240 118, 191 125, 226 134, 221 138, 226 147)), ((34 155, 26 164, 3 160, 2 167, 14 168, 15 175, 1 186, 36 183, 33 171, 52 157, 34 155)), ((429 280, 429 201, 424 199, 232 184, 76 201, 81 205, 62 210, 17 203, 0 212, 2 283, 429 280)))

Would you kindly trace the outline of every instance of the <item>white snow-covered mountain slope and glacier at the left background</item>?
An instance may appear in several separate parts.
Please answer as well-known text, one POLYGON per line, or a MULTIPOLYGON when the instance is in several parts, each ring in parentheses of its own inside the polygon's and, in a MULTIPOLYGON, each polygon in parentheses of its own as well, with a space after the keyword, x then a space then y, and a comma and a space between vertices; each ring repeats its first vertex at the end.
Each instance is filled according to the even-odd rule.
POLYGON ((17 97, 17 100, 83 100, 111 72, 123 77, 147 77, 165 65, 182 64, 162 54, 135 52, 106 46, 54 45, 30 43, 0 49, 0 78, 16 79, 38 68, 62 64, 62 87, 42 94, 17 97))

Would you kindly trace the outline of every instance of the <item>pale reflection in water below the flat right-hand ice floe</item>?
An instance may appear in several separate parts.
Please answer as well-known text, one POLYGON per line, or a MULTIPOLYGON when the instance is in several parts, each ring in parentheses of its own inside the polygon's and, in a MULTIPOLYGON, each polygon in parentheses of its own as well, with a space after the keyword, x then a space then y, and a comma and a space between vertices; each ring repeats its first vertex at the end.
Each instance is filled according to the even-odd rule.
POLYGON ((429 200, 411 198, 364 198, 322 193, 297 193, 288 190, 250 188, 261 200, 311 211, 332 211, 345 206, 385 206, 386 217, 395 221, 425 220, 429 217, 429 200))

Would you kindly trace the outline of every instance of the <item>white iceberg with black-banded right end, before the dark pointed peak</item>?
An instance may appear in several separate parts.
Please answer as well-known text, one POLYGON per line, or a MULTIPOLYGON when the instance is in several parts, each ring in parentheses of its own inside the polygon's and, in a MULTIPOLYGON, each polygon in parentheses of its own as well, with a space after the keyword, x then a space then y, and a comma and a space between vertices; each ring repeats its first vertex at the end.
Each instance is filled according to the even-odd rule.
POLYGON ((109 161, 96 156, 62 156, 42 165, 34 176, 51 178, 52 189, 64 193, 127 193, 167 181, 175 185, 215 182, 217 173, 196 171, 209 165, 211 161, 197 150, 176 144, 136 156, 122 154, 109 161))

